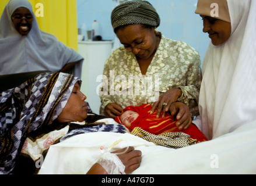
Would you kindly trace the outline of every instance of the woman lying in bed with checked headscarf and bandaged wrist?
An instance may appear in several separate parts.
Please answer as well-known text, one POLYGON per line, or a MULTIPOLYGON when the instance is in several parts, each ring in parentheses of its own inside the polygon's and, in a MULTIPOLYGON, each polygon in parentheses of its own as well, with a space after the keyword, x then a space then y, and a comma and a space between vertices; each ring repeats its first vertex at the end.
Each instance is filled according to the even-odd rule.
MULTIPOLYGON (((35 173, 50 145, 75 128, 95 127, 93 122, 102 117, 86 112, 86 96, 80 92, 80 83, 79 78, 70 74, 45 73, 1 93, 0 173, 35 173)), ((125 133, 121 125, 96 127, 96 130, 125 133)), ((132 147, 108 157, 112 159, 110 163, 100 159, 87 173, 131 173, 141 163, 141 151, 132 147)))

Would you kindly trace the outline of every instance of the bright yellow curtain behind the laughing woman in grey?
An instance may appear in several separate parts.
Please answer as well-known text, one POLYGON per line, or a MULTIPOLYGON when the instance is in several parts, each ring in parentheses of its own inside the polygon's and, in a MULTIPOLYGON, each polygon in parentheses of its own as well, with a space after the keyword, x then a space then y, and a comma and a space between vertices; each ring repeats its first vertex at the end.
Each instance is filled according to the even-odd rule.
MULTIPOLYGON (((75 0, 28 0, 34 10, 43 17, 37 17, 37 22, 41 30, 55 35, 59 41, 68 47, 78 50, 78 23, 75 0), (36 5, 40 5, 36 8, 36 5), (43 10, 43 12, 39 12, 43 10)), ((0 13, 9 0, 0 0, 0 13)))

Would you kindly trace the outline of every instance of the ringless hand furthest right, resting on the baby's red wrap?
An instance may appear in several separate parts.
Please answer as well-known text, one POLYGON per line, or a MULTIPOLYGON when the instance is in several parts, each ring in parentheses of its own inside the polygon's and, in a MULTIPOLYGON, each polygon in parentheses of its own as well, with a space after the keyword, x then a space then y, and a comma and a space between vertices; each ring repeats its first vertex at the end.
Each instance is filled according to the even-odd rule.
POLYGON ((174 102, 170 106, 171 116, 176 116, 176 125, 179 130, 187 129, 192 123, 190 108, 182 102, 174 102))

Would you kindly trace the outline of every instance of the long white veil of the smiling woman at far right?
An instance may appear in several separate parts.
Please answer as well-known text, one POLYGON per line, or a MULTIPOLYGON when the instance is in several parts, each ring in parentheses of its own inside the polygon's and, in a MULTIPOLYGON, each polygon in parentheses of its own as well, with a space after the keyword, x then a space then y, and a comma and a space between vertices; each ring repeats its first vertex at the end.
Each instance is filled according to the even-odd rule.
POLYGON ((209 138, 256 120, 256 1, 227 0, 232 34, 209 44, 199 95, 202 132, 209 138))

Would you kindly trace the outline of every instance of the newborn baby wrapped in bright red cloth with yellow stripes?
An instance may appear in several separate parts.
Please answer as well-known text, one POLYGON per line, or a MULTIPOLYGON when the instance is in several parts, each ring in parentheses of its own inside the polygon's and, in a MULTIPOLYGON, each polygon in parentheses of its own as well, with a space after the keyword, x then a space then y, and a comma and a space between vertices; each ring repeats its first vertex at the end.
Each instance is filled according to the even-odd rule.
POLYGON ((176 126, 177 119, 171 116, 170 113, 167 112, 164 118, 156 118, 157 110, 150 114, 151 108, 152 105, 150 104, 128 106, 122 110, 122 115, 115 118, 115 121, 123 124, 129 131, 132 131, 135 127, 141 127, 143 130, 155 135, 167 132, 183 132, 198 142, 208 141, 194 124, 191 124, 187 129, 179 130, 176 126))

